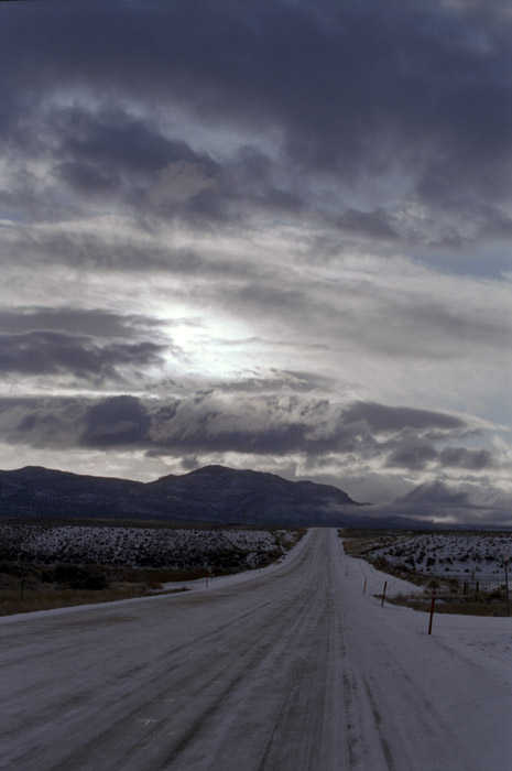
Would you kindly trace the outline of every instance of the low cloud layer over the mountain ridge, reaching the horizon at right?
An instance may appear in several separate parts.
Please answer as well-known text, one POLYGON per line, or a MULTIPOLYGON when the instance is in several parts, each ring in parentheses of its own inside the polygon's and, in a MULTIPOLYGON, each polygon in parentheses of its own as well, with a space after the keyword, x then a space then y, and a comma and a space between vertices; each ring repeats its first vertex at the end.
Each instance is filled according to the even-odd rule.
POLYGON ((470 422, 449 417, 307 392, 0 399, 2 439, 23 457, 32 447, 63 458, 101 453, 106 467, 128 453, 130 469, 135 456, 141 468, 164 461, 176 470, 208 463, 279 469, 346 489, 372 502, 372 515, 505 522, 508 493, 497 481, 510 474, 506 448, 457 446, 478 435, 470 422))

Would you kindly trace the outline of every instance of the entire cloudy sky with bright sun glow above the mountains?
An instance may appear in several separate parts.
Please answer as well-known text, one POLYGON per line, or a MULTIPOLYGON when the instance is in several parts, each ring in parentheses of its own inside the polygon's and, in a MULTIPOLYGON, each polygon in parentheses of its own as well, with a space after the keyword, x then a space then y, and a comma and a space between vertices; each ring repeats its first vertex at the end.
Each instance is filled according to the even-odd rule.
POLYGON ((512 525, 512 9, 0 6, 0 468, 512 525))

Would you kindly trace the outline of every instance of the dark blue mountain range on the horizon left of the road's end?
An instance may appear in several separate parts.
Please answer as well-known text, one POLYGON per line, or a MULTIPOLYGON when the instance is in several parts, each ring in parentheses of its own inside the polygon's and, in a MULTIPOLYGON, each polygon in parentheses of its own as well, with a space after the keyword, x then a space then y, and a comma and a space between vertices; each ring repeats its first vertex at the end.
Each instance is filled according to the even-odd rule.
POLYGON ((152 482, 39 466, 0 471, 0 517, 382 526, 362 513, 363 506, 329 485, 224 466, 152 482))

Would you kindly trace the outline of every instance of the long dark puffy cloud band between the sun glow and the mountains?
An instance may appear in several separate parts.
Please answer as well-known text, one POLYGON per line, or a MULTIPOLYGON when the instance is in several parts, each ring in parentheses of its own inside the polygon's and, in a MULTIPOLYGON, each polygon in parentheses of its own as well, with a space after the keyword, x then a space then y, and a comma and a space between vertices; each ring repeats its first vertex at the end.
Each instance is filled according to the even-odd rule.
MULTIPOLYGON (((450 423, 443 414, 412 410, 401 416, 400 410, 382 406, 384 412, 392 410, 385 421, 385 431, 393 433, 388 442, 382 442, 378 441, 382 420, 374 431, 371 422, 362 417, 367 406, 369 414, 374 416, 375 406, 381 405, 358 403, 344 410, 327 399, 297 393, 255 395, 238 392, 231 395, 222 391, 206 391, 187 398, 151 401, 134 397, 96 401, 77 399, 75 404, 75 423, 63 430, 63 446, 69 436, 80 436, 74 441, 81 446, 107 449, 128 443, 152 455, 190 456, 214 452, 322 456, 331 453, 363 460, 385 458, 394 453, 396 465, 404 465, 411 458, 414 444, 416 447, 423 445, 425 455, 433 428, 436 428, 436 438, 445 441, 453 441, 468 430, 461 421, 454 419, 450 423), (410 424, 416 412, 417 427, 413 430, 410 424), (347 420, 347 415, 355 413, 360 415, 357 421, 347 420), (410 453, 407 457, 405 452, 410 453)), ((36 443, 39 446, 37 427, 43 414, 65 422, 59 400, 12 403, 3 400, 0 427, 4 441, 36 443), (37 419, 32 424, 34 414, 37 419), (32 425, 33 436, 29 431, 32 425)), ((58 432, 52 442, 58 443, 58 432)), ((462 464, 461 457, 459 463, 462 464)))

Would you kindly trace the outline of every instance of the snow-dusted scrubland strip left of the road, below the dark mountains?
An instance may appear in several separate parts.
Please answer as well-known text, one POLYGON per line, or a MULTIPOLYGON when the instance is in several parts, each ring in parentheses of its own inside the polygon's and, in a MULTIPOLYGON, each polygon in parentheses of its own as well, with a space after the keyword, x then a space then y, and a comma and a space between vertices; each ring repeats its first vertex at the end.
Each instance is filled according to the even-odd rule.
POLYGON ((132 567, 255 567, 295 541, 290 530, 167 529, 0 522, 0 558, 132 567))

